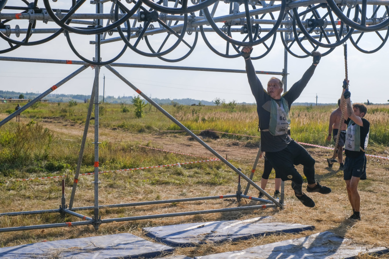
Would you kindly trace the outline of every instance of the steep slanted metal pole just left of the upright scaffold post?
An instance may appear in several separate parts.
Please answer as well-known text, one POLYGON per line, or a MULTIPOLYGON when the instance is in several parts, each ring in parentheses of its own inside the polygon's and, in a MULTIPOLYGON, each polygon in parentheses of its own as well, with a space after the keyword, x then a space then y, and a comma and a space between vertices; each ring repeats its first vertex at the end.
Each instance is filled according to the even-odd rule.
POLYGON ((76 168, 76 172, 74 174, 73 189, 71 190, 71 196, 70 196, 70 200, 69 200, 69 210, 71 210, 71 208, 73 207, 74 195, 75 195, 76 189, 77 189, 78 176, 80 174, 82 157, 84 155, 85 143, 87 142, 87 135, 88 135, 90 116, 91 116, 92 110, 93 110, 95 89, 96 89, 95 82, 93 82, 92 94, 90 95, 90 101, 89 101, 89 107, 88 107, 87 121, 85 121, 84 135, 82 136, 80 153, 78 155, 78 161, 77 161, 77 168, 76 168))

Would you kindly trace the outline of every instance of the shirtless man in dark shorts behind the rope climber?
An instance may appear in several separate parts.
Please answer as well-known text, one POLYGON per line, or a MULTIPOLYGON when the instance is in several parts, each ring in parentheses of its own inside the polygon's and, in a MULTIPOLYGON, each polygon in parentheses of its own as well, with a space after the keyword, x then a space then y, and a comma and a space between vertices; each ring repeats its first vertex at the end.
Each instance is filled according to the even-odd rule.
MULTIPOLYGON (((330 116, 330 124, 328 125, 328 137, 327 141, 331 140, 331 134, 334 138, 334 141, 336 143, 336 137, 337 132, 339 130, 339 122, 340 118, 342 118, 342 109, 340 108, 340 99, 337 100, 337 109, 331 113, 330 116)), ((342 106, 343 107, 343 106, 342 106)), ((342 124, 342 129, 340 131, 339 135, 339 142, 337 145, 337 159, 339 161, 339 170, 343 170, 344 164, 343 164, 343 146, 344 146, 344 140, 346 139, 346 124, 342 124)), ((332 167, 332 165, 337 162, 334 158, 327 158, 328 167, 332 167)))

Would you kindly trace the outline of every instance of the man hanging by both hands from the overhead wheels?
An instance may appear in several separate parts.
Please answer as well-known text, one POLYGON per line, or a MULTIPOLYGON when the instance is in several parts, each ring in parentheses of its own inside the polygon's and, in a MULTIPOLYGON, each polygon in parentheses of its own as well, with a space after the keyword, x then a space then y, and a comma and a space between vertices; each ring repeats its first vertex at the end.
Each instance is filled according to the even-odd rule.
POLYGON ((294 165, 303 165, 303 172, 307 178, 308 192, 327 194, 331 189, 321 186, 315 181, 315 159, 298 143, 288 136, 290 129, 289 109, 292 103, 300 96, 304 87, 311 79, 321 54, 312 52, 313 64, 302 78, 296 82, 289 91, 281 96, 283 82, 275 77, 267 83, 267 91, 255 74, 255 69, 250 59, 252 47, 245 47, 243 57, 246 61, 248 84, 257 102, 259 118, 258 128, 261 131, 261 151, 265 152, 267 160, 273 166, 283 181, 291 180, 292 189, 297 199, 306 207, 315 207, 315 202, 302 192, 302 176, 294 165))

